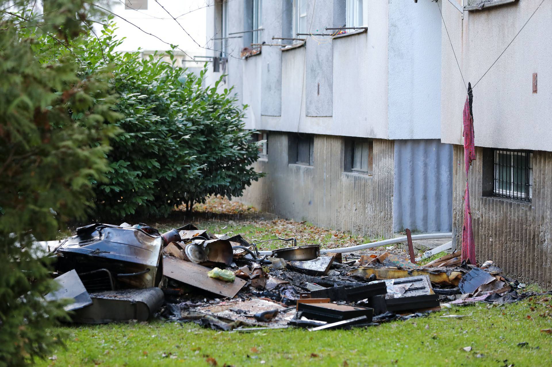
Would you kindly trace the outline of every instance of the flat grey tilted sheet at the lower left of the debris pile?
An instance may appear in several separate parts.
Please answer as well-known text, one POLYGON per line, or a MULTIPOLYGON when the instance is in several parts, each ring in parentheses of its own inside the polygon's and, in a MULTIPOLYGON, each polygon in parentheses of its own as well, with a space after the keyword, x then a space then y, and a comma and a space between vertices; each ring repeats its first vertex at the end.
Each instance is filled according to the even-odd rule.
POLYGON ((65 311, 75 311, 92 305, 92 299, 82 284, 75 269, 54 279, 60 288, 44 296, 46 301, 72 299, 70 305, 63 307, 65 311))

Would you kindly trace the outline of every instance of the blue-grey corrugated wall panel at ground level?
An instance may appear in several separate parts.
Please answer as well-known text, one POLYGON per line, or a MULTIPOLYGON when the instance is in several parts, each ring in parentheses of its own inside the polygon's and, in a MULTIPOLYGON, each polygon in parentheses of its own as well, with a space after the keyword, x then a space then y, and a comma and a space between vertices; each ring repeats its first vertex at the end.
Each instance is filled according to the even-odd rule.
POLYGON ((395 232, 450 231, 452 156, 452 145, 437 139, 395 141, 395 232))

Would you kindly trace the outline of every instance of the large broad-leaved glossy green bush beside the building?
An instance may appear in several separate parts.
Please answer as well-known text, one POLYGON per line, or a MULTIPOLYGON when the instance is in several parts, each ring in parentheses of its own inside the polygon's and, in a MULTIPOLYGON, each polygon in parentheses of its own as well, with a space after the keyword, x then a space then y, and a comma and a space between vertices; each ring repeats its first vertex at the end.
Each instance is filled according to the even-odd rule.
POLYGON ((97 216, 167 216, 175 205, 211 194, 241 195, 261 174, 250 168, 258 146, 243 129, 231 89, 217 90, 220 80, 204 87, 206 69, 187 73, 174 65, 172 51, 146 60, 114 52, 121 41, 113 34, 113 24, 104 26, 82 41, 87 51, 75 51, 86 73, 114 65, 116 110, 125 115, 115 124, 124 132, 111 141, 109 183, 95 190, 97 216))

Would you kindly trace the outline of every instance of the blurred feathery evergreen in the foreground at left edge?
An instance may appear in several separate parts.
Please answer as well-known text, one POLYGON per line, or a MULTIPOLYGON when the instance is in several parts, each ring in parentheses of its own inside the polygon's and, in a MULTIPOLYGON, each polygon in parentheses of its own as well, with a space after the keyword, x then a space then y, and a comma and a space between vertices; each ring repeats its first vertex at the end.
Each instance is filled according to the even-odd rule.
POLYGON ((52 290, 49 260, 33 236, 54 240, 64 221, 92 208, 92 181, 107 171, 109 138, 120 116, 108 76, 77 76, 71 54, 41 54, 38 37, 66 47, 82 31, 89 4, 51 0, 39 19, 25 2, 0 0, 0 366, 45 358, 60 343, 52 326, 66 317, 52 290), (6 4, 12 5, 11 7, 6 4), (45 60, 50 60, 45 63, 45 60))

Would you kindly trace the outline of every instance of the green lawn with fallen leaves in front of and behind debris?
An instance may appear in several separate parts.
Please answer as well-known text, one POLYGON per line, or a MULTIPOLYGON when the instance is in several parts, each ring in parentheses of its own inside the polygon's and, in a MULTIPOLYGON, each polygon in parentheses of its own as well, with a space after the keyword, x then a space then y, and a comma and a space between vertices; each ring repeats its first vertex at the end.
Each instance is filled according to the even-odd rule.
MULTIPOLYGON (((222 216, 206 219, 199 215, 192 222, 213 233, 241 233, 251 241, 297 236, 300 244, 325 247, 370 242, 307 222, 262 217, 244 206, 215 204, 226 205, 218 212, 222 216)), ((212 207, 206 210, 217 212, 212 207)), ((167 230, 184 222, 188 221, 173 218, 150 224, 167 230)), ((262 249, 269 249, 282 243, 263 245, 262 249)), ((209 366, 216 361, 218 366, 552 366, 552 334, 540 331, 552 327, 551 299, 541 296, 506 306, 454 307, 428 317, 348 331, 238 333, 162 321, 68 326, 62 328, 67 332, 66 349, 38 364, 209 366), (443 315, 466 316, 439 317, 443 315), (465 352, 464 347, 472 349, 465 352)))

